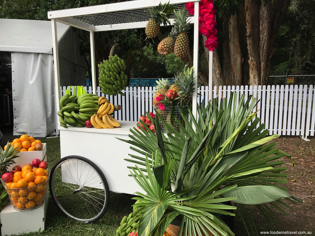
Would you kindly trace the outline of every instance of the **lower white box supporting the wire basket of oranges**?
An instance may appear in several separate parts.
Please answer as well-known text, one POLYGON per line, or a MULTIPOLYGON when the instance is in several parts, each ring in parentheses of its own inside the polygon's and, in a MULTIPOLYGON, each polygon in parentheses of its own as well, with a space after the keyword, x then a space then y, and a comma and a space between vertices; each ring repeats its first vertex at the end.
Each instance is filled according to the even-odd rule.
POLYGON ((11 202, 0 212, 1 235, 22 234, 43 231, 45 229, 46 211, 48 206, 48 188, 44 204, 30 211, 16 211, 11 202), (18 223, 14 223, 18 222, 18 223))

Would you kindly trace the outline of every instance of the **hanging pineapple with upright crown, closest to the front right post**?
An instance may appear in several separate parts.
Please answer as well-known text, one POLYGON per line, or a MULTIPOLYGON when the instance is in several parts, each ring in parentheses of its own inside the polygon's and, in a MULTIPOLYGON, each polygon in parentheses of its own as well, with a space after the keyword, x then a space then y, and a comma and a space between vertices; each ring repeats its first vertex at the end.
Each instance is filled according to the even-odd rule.
POLYGON ((189 40, 187 31, 190 27, 187 22, 188 14, 185 14, 185 8, 182 10, 174 11, 175 13, 175 27, 177 28, 179 35, 176 38, 174 45, 174 53, 180 59, 184 58, 189 50, 189 40))

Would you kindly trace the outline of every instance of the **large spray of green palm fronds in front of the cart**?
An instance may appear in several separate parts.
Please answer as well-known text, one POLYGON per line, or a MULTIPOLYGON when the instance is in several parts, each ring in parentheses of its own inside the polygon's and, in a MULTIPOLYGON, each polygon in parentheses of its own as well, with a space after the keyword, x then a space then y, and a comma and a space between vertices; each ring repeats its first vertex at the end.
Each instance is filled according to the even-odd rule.
POLYGON ((163 121, 173 132, 167 137, 157 117, 152 121, 156 134, 130 130, 130 140, 123 141, 132 144, 139 156, 125 160, 136 163, 129 166, 131 175, 145 193, 136 193, 134 209, 140 210, 127 227, 134 224, 140 236, 162 236, 181 215, 178 235, 234 235, 220 218, 234 215, 231 209, 255 205, 267 219, 279 220, 270 205, 288 214, 283 208, 293 209, 285 201, 303 202, 278 185, 287 182, 284 161, 279 159, 288 157, 295 166, 289 154, 270 143, 279 135, 266 137, 268 131, 258 125, 257 111, 252 113, 255 98, 237 99, 234 94, 229 101, 223 98, 220 106, 217 100, 213 105, 202 103, 198 120, 191 112, 190 121, 181 114, 186 126, 175 118, 179 132, 163 121))

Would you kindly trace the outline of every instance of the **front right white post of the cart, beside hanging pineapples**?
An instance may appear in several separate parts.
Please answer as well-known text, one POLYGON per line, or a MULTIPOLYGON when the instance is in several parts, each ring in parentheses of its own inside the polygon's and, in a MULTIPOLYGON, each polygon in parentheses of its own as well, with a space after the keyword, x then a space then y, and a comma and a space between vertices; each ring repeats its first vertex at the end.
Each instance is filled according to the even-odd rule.
MULTIPOLYGON (((197 117, 197 99, 198 99, 198 48, 199 48, 199 2, 195 2, 194 15, 194 43, 193 43, 193 77, 195 81, 195 91, 192 96, 192 115, 197 117)), ((196 131, 196 127, 193 129, 196 131)))

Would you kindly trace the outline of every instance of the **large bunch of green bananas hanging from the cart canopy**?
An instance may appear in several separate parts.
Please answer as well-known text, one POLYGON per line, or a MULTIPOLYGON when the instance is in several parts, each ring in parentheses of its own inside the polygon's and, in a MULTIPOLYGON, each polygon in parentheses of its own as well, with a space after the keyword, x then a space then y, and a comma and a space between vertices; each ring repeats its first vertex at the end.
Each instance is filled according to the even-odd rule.
POLYGON ((128 76, 124 73, 127 63, 120 59, 117 54, 109 56, 108 60, 104 60, 98 64, 99 67, 99 83, 102 93, 107 95, 120 94, 124 96, 120 90, 127 86, 128 76))

